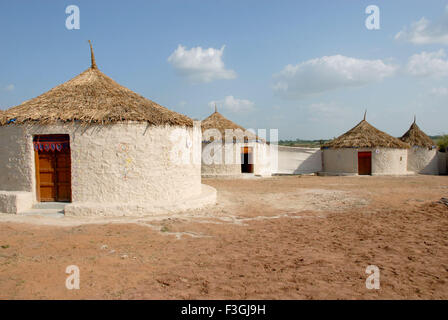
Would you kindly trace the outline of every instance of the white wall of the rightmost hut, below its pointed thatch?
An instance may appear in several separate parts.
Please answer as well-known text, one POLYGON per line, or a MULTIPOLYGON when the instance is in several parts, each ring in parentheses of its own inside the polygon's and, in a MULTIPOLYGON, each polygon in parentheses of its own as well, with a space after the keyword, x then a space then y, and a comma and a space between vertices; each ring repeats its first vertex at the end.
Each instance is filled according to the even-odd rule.
POLYGON ((439 174, 437 149, 414 146, 408 149, 408 171, 420 174, 439 174))

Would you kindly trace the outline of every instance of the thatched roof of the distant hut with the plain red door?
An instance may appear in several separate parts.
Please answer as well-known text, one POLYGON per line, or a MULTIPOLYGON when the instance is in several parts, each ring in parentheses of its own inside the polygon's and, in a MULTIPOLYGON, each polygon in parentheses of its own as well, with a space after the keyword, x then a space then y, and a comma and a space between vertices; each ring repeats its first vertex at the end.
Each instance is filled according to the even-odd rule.
POLYGON ((407 149, 409 145, 378 130, 366 120, 362 120, 354 128, 342 136, 327 142, 325 148, 397 148, 407 149))

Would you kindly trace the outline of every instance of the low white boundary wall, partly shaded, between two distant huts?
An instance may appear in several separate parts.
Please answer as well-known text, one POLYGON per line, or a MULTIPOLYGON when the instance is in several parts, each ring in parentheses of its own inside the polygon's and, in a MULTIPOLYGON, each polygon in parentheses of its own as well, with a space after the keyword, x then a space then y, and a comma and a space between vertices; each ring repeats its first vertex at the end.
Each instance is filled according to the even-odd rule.
POLYGON ((322 151, 318 148, 278 146, 279 174, 307 174, 322 171, 322 151))

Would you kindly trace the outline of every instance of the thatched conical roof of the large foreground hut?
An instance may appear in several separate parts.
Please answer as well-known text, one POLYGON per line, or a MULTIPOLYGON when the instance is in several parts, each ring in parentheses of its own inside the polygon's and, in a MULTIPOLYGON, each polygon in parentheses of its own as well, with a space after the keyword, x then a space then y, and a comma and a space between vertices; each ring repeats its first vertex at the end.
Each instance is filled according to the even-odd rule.
POLYGON ((193 125, 189 117, 168 110, 106 76, 98 70, 93 50, 91 59, 91 67, 80 75, 7 110, 0 125, 11 121, 16 124, 139 121, 150 125, 193 125))

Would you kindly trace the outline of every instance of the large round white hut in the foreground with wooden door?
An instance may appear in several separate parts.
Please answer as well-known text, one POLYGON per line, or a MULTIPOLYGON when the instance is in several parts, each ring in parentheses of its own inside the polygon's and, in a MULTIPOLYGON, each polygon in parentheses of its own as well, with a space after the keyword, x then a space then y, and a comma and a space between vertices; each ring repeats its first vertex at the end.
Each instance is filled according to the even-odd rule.
POLYGON ((66 215, 142 215, 214 203, 199 122, 119 85, 95 63, 6 111, 0 212, 68 202, 66 215))

